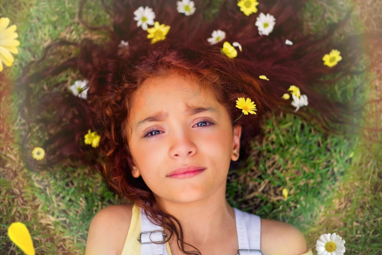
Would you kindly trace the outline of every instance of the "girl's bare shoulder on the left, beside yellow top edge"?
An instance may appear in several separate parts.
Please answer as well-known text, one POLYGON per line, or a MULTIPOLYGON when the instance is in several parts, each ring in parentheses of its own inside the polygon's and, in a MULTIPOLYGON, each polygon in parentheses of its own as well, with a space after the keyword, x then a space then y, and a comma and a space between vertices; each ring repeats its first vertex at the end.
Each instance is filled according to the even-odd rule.
POLYGON ((130 227, 133 205, 112 205, 90 222, 85 255, 119 255, 130 227))

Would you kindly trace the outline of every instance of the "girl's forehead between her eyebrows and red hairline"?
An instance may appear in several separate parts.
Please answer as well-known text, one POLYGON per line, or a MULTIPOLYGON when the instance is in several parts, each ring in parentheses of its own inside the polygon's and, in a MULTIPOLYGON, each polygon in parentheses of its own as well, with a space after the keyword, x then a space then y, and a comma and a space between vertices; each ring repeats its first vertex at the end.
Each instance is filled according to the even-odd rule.
POLYGON ((178 110, 193 106, 220 108, 212 93, 202 90, 195 78, 179 75, 145 80, 132 102, 129 119, 133 123, 158 111, 171 111, 173 107, 178 110))

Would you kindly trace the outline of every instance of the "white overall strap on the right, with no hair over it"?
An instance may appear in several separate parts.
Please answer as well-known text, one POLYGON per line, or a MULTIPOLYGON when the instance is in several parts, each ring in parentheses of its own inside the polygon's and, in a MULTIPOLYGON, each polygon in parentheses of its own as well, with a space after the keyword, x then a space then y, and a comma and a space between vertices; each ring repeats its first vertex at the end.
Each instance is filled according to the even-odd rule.
POLYGON ((258 215, 235 211, 239 251, 237 255, 263 255, 260 250, 261 218, 258 215))

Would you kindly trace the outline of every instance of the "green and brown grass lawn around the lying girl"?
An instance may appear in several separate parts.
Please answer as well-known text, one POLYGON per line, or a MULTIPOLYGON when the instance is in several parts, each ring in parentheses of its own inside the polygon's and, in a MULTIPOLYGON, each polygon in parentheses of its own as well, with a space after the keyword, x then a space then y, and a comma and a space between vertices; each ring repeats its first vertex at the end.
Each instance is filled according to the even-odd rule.
MULTIPOLYGON (((219 0, 215 2, 218 7, 219 0)), ((355 7, 352 20, 342 33, 381 29, 382 4, 378 1, 309 0, 304 10, 305 31, 320 31, 329 22, 342 19, 350 6, 355 7)), ((15 80, 21 68, 39 59, 43 48, 56 39, 101 38, 80 24, 78 10, 79 0, 1 1, 1 17, 18 26, 20 41, 20 52, 14 55, 12 67, 4 67, 4 77, 15 80)), ((206 12, 211 18, 217 14, 216 8, 206 12)), ((86 3, 83 17, 93 25, 110 24, 99 1, 86 3)), ((382 98, 381 77, 379 66, 350 83, 344 79, 331 93, 338 100, 344 99, 349 88, 366 81, 360 100, 382 98)), ((68 70, 53 81, 69 87, 77 78, 68 70)), ((40 86, 47 90, 49 82, 40 86)), ((6 234, 15 221, 25 223, 38 255, 83 254, 94 214, 108 205, 129 201, 108 191, 100 174, 91 169, 25 169, 19 153, 25 132, 18 114, 22 95, 4 82, 0 95, 0 254, 23 254, 6 234)), ((376 127, 381 117, 369 112, 378 107, 381 109, 381 105, 369 106, 362 116, 355 117, 366 126, 376 127)), ((35 130, 39 134, 39 127, 35 130)), ((364 139, 370 135, 365 130, 353 138, 327 136, 289 114, 270 114, 263 131, 263 141, 253 144, 248 167, 229 172, 229 203, 242 211, 297 226, 314 254, 317 239, 325 233, 342 236, 346 254, 381 254, 381 134, 374 134, 374 143, 364 139), (282 196, 283 188, 289 190, 288 199, 282 196)), ((29 145, 31 149, 39 146, 39 137, 31 139, 35 143, 29 145)))

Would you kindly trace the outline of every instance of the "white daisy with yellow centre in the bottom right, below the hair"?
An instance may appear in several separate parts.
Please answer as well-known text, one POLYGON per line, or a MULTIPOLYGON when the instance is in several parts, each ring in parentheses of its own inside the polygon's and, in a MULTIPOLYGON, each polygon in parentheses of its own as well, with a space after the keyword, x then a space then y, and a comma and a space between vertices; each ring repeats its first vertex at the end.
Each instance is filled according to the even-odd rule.
POLYGON ((318 255, 343 255, 345 253, 345 240, 334 234, 322 234, 316 243, 318 255))

